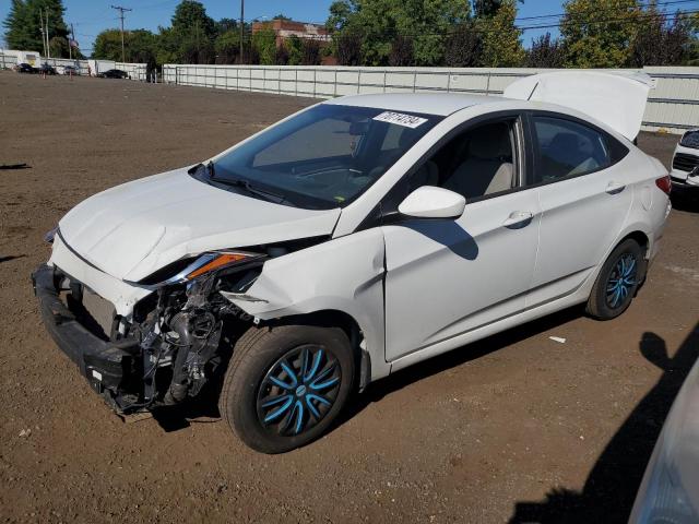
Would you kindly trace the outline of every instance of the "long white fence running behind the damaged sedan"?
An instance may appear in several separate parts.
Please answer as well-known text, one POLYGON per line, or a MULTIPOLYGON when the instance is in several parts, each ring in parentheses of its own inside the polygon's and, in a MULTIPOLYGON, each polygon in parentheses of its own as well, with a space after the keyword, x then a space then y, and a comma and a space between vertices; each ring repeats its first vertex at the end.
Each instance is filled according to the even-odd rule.
MULTIPOLYGON (((450 92, 501 95, 521 76, 545 70, 451 68, 348 68, 298 66, 165 64, 163 81, 221 90, 313 98, 364 93, 450 92)), ((699 68, 644 68, 656 79, 643 118, 647 130, 682 133, 699 127, 699 68)))

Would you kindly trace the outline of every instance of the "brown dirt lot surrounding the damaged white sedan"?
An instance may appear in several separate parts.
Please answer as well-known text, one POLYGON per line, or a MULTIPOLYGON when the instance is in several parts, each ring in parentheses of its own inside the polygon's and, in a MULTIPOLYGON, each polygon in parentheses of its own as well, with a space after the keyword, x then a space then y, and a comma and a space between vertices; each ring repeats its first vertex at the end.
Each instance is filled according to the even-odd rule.
MULTIPOLYGON (((29 166, 0 169, 2 519, 621 522, 699 353, 696 201, 677 202, 621 318, 566 311, 420 364, 281 456, 249 451, 215 410, 179 427, 123 424, 54 345, 29 272, 71 206, 206 158, 310 102, 0 73, 0 165, 29 166)), ((675 140, 643 135, 641 146, 667 164, 675 140)))

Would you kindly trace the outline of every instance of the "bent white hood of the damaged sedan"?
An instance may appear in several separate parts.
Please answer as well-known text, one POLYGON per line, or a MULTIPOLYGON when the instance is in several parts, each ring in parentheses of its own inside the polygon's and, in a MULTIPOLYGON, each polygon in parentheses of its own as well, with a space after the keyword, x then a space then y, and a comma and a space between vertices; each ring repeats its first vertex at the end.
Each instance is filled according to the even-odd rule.
POLYGON ((66 243, 117 278, 138 282, 185 255, 332 234, 340 210, 275 204, 193 179, 187 169, 117 186, 59 223, 66 243))

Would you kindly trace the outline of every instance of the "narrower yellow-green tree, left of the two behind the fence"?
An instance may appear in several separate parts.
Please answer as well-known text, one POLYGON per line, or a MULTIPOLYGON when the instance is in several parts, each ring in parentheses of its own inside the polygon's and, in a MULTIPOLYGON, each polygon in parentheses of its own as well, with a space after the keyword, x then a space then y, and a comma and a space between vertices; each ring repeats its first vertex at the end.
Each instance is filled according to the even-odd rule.
POLYGON ((486 68, 512 68, 524 61, 520 37, 522 31, 514 25, 516 0, 502 0, 500 8, 487 20, 478 20, 483 32, 483 66, 486 68))

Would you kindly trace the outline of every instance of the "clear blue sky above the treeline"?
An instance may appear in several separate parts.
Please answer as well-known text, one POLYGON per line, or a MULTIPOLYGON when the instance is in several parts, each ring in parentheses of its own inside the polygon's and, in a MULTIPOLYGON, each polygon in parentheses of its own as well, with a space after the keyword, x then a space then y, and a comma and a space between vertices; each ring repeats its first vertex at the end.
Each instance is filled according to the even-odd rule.
MULTIPOLYGON (((92 51, 95 36, 103 29, 119 26, 118 12, 110 5, 122 5, 133 11, 126 13, 125 27, 128 29, 157 31, 159 25, 168 26, 175 7, 180 0, 63 0, 66 14, 63 20, 75 27, 75 39, 85 55, 92 51)), ((202 0, 206 13, 215 19, 240 16, 240 0, 202 0)), ((246 20, 272 17, 284 14, 303 22, 323 23, 328 17, 328 8, 332 0, 247 0, 245 4, 246 20)), ((11 0, 0 0, 0 20, 4 20, 10 11, 11 0)), ((519 3, 520 17, 558 14, 562 12, 562 0, 525 0, 519 3)), ((519 21, 519 25, 544 25, 554 23, 552 19, 519 21)), ((526 47, 532 38, 549 31, 557 35, 555 28, 526 31, 523 41, 526 47)), ((3 40, 4 44, 4 40, 3 40)))

